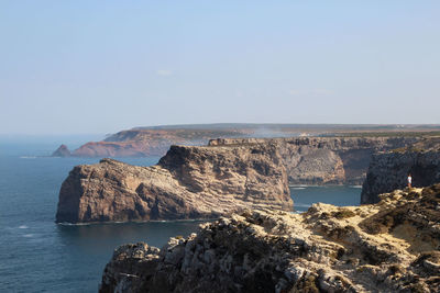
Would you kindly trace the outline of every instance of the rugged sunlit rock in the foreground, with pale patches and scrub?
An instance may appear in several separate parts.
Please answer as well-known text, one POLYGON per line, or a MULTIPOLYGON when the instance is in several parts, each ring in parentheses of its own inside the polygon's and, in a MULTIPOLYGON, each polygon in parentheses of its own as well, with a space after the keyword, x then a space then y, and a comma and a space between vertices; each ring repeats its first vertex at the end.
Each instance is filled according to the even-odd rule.
POLYGON ((244 212, 119 247, 100 292, 440 292, 440 184, 376 205, 244 212))

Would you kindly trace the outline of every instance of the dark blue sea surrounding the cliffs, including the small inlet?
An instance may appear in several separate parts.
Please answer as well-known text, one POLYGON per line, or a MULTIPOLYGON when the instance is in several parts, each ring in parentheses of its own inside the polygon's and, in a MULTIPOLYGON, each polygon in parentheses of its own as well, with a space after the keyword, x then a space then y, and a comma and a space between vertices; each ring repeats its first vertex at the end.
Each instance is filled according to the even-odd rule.
MULTIPOLYGON (((66 140, 67 138, 63 138, 66 140)), ((70 146, 89 140, 72 138, 70 146)), ((97 292, 113 250, 127 243, 162 247, 197 232, 200 221, 55 224, 58 192, 74 166, 99 158, 53 158, 59 138, 0 137, 0 292, 97 292)), ((158 157, 116 158, 151 166, 158 157)), ((359 205, 360 187, 290 187, 295 212, 316 202, 359 205)))

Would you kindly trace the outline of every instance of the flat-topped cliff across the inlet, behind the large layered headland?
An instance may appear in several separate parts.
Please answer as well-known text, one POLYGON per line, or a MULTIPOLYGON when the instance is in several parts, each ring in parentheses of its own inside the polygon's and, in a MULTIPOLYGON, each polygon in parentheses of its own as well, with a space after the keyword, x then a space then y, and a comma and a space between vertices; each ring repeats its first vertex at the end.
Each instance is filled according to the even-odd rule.
POLYGON ((418 137, 219 138, 209 145, 273 144, 290 184, 362 184, 373 154, 405 147, 418 137))

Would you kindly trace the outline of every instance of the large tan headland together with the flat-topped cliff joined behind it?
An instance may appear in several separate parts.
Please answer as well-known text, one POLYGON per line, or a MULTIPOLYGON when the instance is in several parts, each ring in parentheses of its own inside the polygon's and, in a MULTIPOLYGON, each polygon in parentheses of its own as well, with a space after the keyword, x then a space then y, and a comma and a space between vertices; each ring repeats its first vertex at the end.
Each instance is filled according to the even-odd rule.
POLYGON ((361 184, 371 155, 417 138, 223 138, 173 146, 156 166, 112 159, 75 167, 56 222, 213 218, 242 209, 292 210, 289 184, 361 184))

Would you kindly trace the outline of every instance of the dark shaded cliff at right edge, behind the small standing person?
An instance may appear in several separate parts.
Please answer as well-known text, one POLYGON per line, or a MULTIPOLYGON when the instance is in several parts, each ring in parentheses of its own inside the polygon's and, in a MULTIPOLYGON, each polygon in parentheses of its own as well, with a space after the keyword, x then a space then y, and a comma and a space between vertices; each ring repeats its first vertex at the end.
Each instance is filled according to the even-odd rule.
POLYGON ((440 182, 440 149, 402 149, 373 156, 362 187, 361 203, 376 203, 378 194, 407 185, 408 173, 414 187, 440 182))

